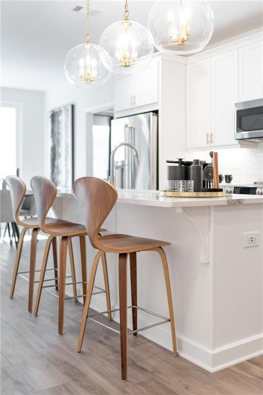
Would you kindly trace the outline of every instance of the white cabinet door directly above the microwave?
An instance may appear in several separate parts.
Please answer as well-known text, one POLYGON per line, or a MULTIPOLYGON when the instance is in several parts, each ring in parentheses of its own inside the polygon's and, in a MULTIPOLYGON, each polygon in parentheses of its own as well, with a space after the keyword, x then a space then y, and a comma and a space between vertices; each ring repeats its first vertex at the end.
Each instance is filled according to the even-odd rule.
POLYGON ((259 99, 263 94, 263 41, 239 48, 239 101, 259 99))

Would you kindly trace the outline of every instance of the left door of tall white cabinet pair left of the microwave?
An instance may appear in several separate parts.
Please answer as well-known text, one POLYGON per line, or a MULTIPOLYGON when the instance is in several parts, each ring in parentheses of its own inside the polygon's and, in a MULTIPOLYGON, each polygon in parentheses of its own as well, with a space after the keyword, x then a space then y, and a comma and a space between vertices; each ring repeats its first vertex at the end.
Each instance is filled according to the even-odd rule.
POLYGON ((210 75, 210 59, 187 66, 187 148, 210 144, 210 75))

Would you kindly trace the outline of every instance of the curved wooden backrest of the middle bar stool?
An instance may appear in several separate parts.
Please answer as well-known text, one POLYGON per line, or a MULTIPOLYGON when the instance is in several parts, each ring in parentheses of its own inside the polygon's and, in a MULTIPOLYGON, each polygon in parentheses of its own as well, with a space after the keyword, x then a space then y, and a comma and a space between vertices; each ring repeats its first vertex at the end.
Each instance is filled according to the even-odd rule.
POLYGON ((45 225, 47 213, 57 196, 57 187, 52 181, 41 175, 31 178, 30 185, 34 193, 37 219, 43 232, 47 232, 45 225))

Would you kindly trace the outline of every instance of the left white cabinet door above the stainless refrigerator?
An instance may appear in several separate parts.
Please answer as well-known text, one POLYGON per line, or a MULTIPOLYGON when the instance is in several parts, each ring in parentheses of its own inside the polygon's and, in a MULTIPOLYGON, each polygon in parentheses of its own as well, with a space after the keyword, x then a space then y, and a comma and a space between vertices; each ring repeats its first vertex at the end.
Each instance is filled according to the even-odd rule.
POLYGON ((136 76, 119 77, 115 81, 115 112, 128 110, 134 106, 136 92, 136 76))

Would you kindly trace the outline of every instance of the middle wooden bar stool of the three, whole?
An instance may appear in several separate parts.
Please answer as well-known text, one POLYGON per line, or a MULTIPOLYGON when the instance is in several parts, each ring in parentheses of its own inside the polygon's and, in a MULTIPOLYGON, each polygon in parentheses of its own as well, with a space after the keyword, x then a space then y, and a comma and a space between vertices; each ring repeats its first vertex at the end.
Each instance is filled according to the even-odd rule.
MULTIPOLYGON (((83 301, 85 303, 86 293, 87 293, 87 272, 86 272, 86 241, 85 237, 87 236, 87 231, 85 225, 76 224, 73 222, 66 221, 61 224, 52 224, 51 226, 47 225, 46 216, 47 213, 52 206, 55 197, 57 196, 57 187, 52 181, 46 177, 42 176, 35 176, 31 178, 31 188, 34 192, 35 197, 35 205, 36 205, 36 213, 37 218, 40 223, 40 228, 45 233, 50 235, 49 239, 53 239, 55 237, 61 237, 60 242, 60 269, 59 269, 59 333, 63 334, 64 330, 64 304, 66 299, 77 300, 78 297, 83 297, 83 301), (70 246, 70 261, 73 260, 73 253, 72 253, 72 245, 71 245, 71 238, 78 236, 80 239, 80 252, 81 252, 81 270, 82 270, 82 281, 76 282, 76 279, 73 279, 72 283, 66 283, 66 263, 67 263, 67 245, 70 246), (77 295, 76 288, 74 289, 74 296, 73 297, 66 297, 65 298, 65 286, 73 284, 76 287, 77 283, 82 283, 83 287, 83 294, 77 295)), ((100 229, 105 230, 105 229, 100 229)), ((37 315, 37 311, 39 309, 40 297, 42 289, 47 291, 45 286, 43 286, 43 281, 45 277, 45 270, 47 265, 47 255, 48 255, 49 246, 46 245, 44 258, 42 262, 39 286, 37 289, 37 296, 35 301, 35 309, 34 315, 37 315)), ((93 293, 94 294, 101 294, 106 293, 106 302, 107 302, 107 309, 109 310, 108 319, 111 319, 110 313, 110 295, 109 295, 109 286, 108 286, 108 272, 107 272, 107 263, 105 255, 101 255, 102 260, 102 267, 103 267, 103 275, 104 275, 104 283, 105 283, 105 290, 96 286, 99 291, 93 293)), ((92 284, 93 285, 93 284, 92 284)), ((51 293, 51 292, 50 292, 51 293)), ((54 296, 57 296, 51 293, 54 296)))

